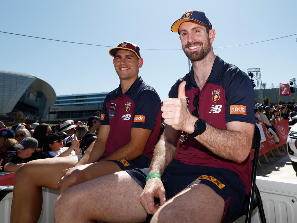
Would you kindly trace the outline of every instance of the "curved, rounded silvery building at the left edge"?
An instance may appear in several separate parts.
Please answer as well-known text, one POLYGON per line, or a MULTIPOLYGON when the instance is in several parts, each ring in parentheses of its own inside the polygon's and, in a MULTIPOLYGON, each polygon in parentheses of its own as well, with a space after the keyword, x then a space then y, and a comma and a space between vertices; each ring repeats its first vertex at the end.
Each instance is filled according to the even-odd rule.
POLYGON ((0 119, 13 122, 22 112, 28 123, 42 121, 56 101, 46 81, 25 73, 0 70, 0 119))

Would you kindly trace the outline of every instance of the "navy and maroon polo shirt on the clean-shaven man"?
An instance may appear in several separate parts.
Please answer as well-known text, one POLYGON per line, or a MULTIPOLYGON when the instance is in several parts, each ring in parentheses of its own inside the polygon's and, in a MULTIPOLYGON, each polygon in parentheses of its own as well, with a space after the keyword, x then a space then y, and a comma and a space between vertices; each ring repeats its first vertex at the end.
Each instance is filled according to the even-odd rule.
POLYGON ((151 130, 143 155, 153 156, 161 127, 161 101, 154 88, 139 76, 127 92, 121 84, 110 92, 103 103, 101 125, 110 125, 103 156, 108 156, 131 140, 131 128, 151 130))

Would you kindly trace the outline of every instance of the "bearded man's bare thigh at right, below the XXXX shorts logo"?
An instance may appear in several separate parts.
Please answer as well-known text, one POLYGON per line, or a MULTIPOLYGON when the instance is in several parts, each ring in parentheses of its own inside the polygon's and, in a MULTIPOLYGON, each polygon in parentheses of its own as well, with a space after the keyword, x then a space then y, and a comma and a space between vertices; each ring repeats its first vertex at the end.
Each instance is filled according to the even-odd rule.
POLYGON ((205 184, 195 184, 168 200, 151 219, 156 222, 221 222, 225 202, 205 184))

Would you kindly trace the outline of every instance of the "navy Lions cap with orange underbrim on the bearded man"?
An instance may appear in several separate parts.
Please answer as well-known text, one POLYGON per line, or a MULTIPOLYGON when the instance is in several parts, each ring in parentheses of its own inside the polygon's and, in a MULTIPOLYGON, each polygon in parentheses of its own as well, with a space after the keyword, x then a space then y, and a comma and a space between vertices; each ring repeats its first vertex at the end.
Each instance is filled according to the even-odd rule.
POLYGON ((203 24, 204 26, 208 26, 209 29, 212 29, 212 25, 204 12, 197 11, 197 10, 189 10, 185 12, 180 19, 176 20, 172 24, 171 31, 178 32, 179 34, 179 31, 178 31, 179 26, 181 25, 181 23, 187 22, 187 21, 196 21, 198 23, 203 24))

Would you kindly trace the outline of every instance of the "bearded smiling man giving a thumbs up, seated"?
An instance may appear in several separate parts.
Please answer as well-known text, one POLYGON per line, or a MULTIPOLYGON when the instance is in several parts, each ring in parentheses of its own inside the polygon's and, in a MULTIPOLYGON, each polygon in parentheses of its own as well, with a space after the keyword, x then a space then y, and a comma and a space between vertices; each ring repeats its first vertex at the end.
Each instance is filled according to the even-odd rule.
POLYGON ((150 168, 70 188, 56 202, 56 222, 144 222, 149 213, 151 222, 215 223, 241 210, 251 186, 252 83, 214 54, 215 30, 204 12, 185 12, 171 30, 180 34, 192 69, 163 102, 166 128, 150 168))

